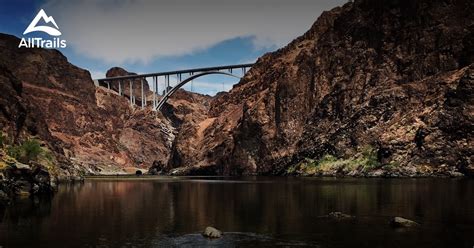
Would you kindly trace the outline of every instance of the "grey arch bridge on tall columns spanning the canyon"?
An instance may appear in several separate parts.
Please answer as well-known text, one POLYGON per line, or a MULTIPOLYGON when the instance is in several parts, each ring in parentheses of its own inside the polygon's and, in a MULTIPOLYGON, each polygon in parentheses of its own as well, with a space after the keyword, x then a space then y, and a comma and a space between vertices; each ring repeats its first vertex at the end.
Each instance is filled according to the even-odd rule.
POLYGON ((241 76, 245 75, 247 70, 252 67, 253 64, 238 64, 238 65, 225 65, 225 66, 215 66, 215 67, 205 67, 205 68, 195 68, 187 70, 178 70, 178 71, 167 71, 167 72, 157 72, 157 73, 147 73, 140 75, 126 75, 119 77, 108 77, 95 80, 96 85, 99 87, 107 87, 108 89, 116 90, 120 96, 125 96, 125 84, 129 85, 129 95, 130 104, 132 106, 136 104, 137 98, 134 95, 134 84, 139 83, 141 85, 141 94, 138 99, 141 102, 141 107, 145 108, 147 106, 147 96, 144 92, 144 84, 147 83, 147 78, 151 78, 151 89, 153 92, 153 110, 161 110, 166 101, 176 92, 178 89, 183 87, 185 84, 192 82, 194 79, 218 74, 226 75, 230 77, 239 78, 236 71, 241 71, 241 76), (176 77, 176 83, 173 86, 170 86, 170 77, 176 77), (183 77, 184 76, 184 77, 183 77), (159 92, 159 78, 164 79, 164 89, 162 94, 159 92), (115 86, 115 87, 114 87, 115 86))

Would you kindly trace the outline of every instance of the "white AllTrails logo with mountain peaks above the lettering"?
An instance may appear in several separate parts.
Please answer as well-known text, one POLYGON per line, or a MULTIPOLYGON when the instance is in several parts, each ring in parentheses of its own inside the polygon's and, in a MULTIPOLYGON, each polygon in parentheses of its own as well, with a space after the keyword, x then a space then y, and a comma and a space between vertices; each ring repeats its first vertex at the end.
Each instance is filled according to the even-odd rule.
MULTIPOLYGON (((52 16, 46 15, 43 9, 41 9, 38 14, 35 16, 33 21, 31 21, 30 25, 25 29, 23 35, 31 33, 31 32, 44 32, 51 36, 60 36, 61 31, 59 31, 58 24, 54 21, 52 16), (38 25, 38 22, 43 20, 45 24, 51 23, 54 26, 41 26, 38 25)), ((52 40, 50 39, 43 39, 40 37, 36 38, 22 38, 18 48, 26 47, 26 48, 65 48, 66 47, 66 40, 62 40, 59 37, 55 37, 52 40)))

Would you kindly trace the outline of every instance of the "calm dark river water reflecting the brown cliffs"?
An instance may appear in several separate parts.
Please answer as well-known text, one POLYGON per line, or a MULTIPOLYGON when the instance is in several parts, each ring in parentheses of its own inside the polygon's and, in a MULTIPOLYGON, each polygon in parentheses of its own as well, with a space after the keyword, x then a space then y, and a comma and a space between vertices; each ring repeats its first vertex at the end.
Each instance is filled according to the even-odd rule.
POLYGON ((466 179, 87 180, 0 209, 3 247, 469 247, 466 179), (332 211, 357 216, 338 221, 332 211), (422 223, 394 229, 390 217, 422 223), (209 241, 211 225, 224 232, 209 241))

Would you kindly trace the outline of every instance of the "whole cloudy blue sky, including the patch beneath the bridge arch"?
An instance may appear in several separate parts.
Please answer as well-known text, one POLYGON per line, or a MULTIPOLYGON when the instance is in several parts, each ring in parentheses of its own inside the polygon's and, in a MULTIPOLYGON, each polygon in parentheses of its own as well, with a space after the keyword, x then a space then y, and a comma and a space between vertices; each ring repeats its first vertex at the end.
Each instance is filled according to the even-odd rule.
MULTIPOLYGON (((322 11, 345 2, 0 0, 0 32, 23 37, 44 9, 67 40, 59 50, 97 79, 114 66, 151 73, 253 63, 306 32, 322 11)), ((210 75, 196 79, 193 90, 214 95, 235 83, 210 75)))

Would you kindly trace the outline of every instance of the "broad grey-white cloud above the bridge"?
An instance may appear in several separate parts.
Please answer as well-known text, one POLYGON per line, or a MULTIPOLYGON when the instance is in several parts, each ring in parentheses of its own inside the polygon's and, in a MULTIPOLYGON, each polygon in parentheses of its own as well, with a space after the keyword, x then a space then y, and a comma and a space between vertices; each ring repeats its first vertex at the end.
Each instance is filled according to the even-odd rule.
POLYGON ((346 1, 318 0, 46 0, 68 45, 113 64, 205 50, 252 37, 256 48, 283 46, 323 10, 346 1))

